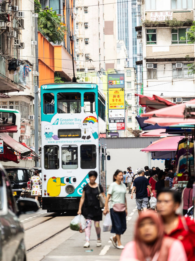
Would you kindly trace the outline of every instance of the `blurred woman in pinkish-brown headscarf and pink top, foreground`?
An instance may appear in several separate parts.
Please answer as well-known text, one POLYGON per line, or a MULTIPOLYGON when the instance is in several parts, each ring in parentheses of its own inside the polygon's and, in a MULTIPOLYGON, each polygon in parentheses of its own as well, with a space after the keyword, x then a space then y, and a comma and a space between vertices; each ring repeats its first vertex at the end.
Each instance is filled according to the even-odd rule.
POLYGON ((146 211, 137 220, 134 241, 126 244, 120 261, 187 261, 181 241, 164 236, 156 213, 146 211))

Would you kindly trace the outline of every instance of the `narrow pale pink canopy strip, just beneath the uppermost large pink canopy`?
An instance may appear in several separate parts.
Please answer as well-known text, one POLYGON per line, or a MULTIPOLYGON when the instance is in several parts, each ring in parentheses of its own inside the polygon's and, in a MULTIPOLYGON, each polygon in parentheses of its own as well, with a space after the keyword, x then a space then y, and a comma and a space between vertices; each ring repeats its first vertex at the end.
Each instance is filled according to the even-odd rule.
POLYGON ((172 125, 195 125, 195 119, 181 119, 181 118, 158 118, 151 117, 144 121, 147 124, 158 124, 161 127, 172 126, 172 125))

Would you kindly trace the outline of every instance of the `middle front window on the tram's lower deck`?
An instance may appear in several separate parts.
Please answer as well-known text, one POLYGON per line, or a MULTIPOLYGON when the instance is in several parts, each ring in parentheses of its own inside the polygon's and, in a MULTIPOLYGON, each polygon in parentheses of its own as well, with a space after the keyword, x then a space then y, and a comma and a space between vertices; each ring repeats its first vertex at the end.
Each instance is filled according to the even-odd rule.
POLYGON ((62 169, 72 170, 78 168, 78 146, 62 146, 62 169))

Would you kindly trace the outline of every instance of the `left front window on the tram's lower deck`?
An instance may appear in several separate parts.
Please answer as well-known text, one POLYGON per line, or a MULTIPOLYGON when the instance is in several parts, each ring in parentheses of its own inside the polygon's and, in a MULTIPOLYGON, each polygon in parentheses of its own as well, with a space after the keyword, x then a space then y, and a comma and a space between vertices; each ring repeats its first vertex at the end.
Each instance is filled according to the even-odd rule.
POLYGON ((59 146, 44 146, 44 168, 46 170, 59 169, 59 146))

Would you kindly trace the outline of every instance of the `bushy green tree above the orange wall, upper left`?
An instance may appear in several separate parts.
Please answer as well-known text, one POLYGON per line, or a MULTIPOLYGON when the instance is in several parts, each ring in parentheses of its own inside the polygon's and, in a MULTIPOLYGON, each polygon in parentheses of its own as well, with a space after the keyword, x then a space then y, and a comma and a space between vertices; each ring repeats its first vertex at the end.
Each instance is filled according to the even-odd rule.
POLYGON ((63 42, 67 30, 66 25, 52 8, 39 12, 38 29, 49 42, 53 43, 63 42))

